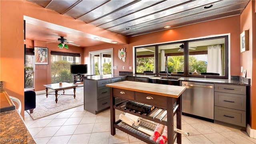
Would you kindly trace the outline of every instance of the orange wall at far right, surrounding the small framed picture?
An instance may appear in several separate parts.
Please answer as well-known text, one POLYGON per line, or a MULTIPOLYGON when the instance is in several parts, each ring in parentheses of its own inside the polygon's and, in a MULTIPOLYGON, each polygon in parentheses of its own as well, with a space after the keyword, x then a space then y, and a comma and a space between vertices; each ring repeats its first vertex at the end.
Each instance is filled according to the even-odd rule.
POLYGON ((249 30, 249 50, 241 53, 241 66, 246 70, 246 77, 251 78, 250 87, 250 126, 256 129, 256 42, 255 42, 255 1, 250 1, 241 14, 240 32, 249 30))

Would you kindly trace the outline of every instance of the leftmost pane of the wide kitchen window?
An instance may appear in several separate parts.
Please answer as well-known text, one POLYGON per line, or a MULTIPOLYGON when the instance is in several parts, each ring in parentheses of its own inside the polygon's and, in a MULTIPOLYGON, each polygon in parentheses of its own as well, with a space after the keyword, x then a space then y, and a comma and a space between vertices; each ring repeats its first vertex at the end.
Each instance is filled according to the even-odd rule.
POLYGON ((136 73, 155 73, 155 46, 136 48, 136 73))

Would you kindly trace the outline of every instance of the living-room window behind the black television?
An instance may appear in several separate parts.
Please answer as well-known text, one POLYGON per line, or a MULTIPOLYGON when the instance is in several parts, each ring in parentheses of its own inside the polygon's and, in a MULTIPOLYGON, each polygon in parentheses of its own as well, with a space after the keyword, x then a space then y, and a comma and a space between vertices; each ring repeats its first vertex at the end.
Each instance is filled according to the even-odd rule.
POLYGON ((73 83, 73 74, 70 73, 71 64, 80 64, 80 54, 51 51, 52 83, 73 83))

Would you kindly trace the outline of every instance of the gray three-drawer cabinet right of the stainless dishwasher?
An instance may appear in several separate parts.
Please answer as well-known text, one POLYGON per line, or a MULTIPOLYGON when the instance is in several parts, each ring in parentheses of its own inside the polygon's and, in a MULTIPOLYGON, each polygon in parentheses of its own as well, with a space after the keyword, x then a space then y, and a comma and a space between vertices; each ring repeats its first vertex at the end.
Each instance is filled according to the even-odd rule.
POLYGON ((214 85, 214 122, 246 128, 246 86, 214 85))

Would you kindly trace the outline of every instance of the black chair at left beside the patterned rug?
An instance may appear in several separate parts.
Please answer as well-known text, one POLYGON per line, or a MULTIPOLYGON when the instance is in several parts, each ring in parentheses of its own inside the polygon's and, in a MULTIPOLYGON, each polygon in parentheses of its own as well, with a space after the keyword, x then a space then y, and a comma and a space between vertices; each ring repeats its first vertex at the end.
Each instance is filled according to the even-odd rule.
POLYGON ((36 92, 33 90, 25 91, 24 99, 25 110, 29 110, 30 114, 32 114, 34 108, 36 108, 36 92))

